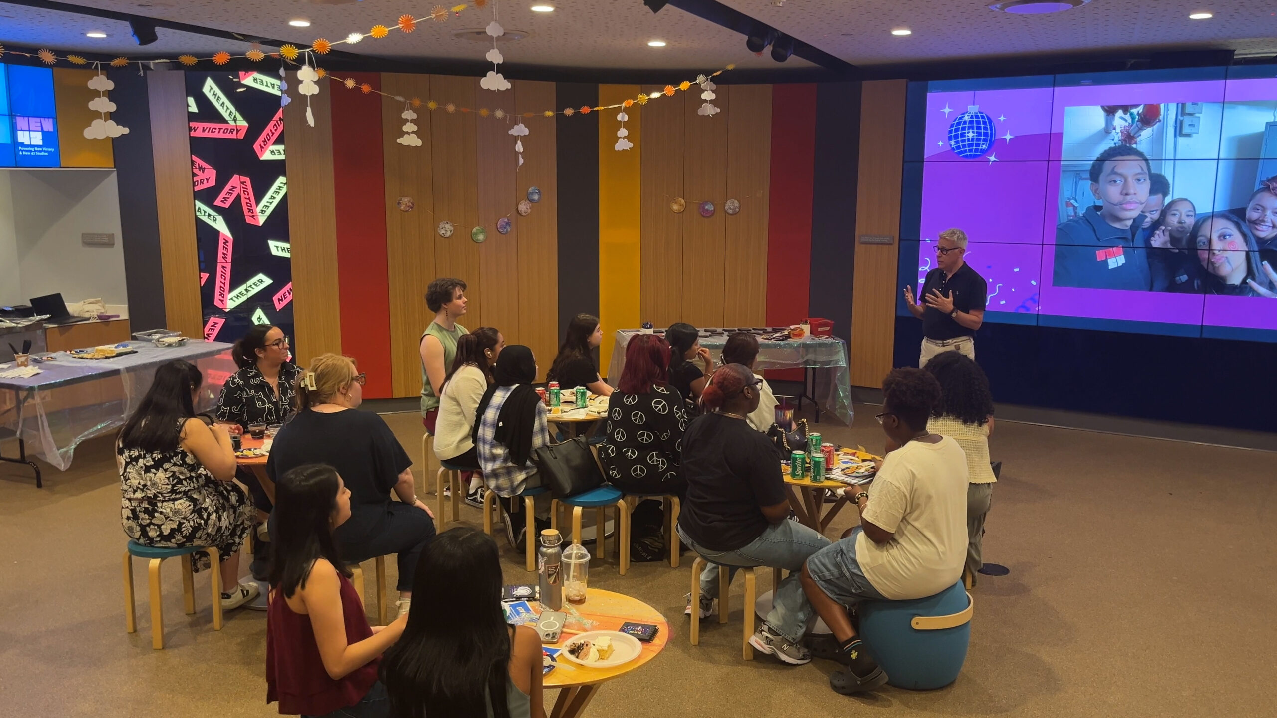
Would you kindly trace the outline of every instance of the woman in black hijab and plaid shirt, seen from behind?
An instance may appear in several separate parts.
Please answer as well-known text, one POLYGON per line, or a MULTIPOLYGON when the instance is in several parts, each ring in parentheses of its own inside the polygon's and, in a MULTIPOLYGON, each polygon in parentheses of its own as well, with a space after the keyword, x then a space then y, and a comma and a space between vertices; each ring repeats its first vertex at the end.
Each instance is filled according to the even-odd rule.
MULTIPOLYGON (((550 443, 545 405, 533 388, 536 359, 533 350, 516 344, 497 358, 495 382, 488 387, 475 413, 474 443, 479 451, 484 484, 497 496, 511 500, 525 488, 541 485, 531 462, 533 450, 550 443)), ((549 496, 535 497, 536 530, 549 528, 549 496)), ((522 502, 502 501, 506 508, 506 537, 516 549, 524 548, 526 516, 522 502)))

